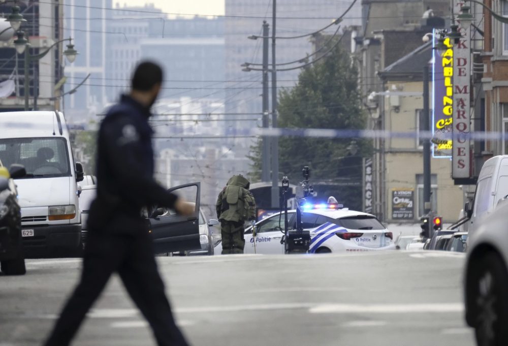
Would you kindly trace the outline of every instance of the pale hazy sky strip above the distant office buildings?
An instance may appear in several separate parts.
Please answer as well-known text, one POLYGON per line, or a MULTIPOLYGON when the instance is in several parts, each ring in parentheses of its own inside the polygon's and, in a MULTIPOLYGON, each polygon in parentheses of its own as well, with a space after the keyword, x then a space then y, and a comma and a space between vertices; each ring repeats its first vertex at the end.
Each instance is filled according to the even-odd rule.
POLYGON ((113 6, 143 6, 153 3, 155 7, 169 13, 224 14, 224 0, 113 0, 113 6))

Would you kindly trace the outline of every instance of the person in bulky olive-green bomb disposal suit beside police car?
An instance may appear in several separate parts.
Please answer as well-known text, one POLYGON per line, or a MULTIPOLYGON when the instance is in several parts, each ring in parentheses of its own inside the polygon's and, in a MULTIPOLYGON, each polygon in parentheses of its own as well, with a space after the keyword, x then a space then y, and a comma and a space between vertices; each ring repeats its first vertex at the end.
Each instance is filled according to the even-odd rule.
POLYGON ((243 254, 243 224, 256 219, 256 202, 249 191, 250 182, 242 175, 233 176, 220 191, 215 209, 220 221, 222 254, 243 254))

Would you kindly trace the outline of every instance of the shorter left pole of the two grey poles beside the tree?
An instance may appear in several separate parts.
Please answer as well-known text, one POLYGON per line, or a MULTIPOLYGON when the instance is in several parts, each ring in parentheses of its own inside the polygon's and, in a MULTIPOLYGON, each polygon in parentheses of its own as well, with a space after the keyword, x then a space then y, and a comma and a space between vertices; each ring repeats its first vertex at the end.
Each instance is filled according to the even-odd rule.
MULTIPOLYGON (((263 21, 263 128, 269 127, 268 121, 268 23, 263 21)), ((270 142, 268 136, 263 136, 263 152, 261 181, 270 181, 270 142)))

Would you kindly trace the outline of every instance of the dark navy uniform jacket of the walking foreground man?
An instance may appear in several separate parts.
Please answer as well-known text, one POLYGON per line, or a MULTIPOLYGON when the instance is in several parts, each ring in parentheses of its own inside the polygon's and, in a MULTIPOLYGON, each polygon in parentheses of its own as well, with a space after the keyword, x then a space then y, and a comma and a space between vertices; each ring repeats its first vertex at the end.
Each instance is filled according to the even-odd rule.
POLYGON ((98 136, 97 198, 90 207, 91 232, 131 233, 147 228, 141 209, 173 207, 177 196, 153 179, 150 110, 128 95, 109 109, 98 136))

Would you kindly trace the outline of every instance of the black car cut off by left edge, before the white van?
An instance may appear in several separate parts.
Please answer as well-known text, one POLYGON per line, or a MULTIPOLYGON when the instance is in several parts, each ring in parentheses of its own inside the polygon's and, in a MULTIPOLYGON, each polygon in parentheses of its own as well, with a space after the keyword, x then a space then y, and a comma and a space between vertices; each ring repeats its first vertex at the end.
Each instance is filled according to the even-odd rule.
POLYGON ((26 272, 21 243, 21 209, 12 180, 25 175, 25 168, 21 165, 12 165, 7 170, 0 163, 0 269, 5 275, 23 275, 26 272))

